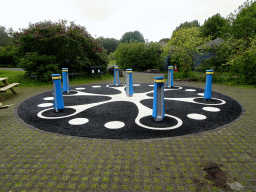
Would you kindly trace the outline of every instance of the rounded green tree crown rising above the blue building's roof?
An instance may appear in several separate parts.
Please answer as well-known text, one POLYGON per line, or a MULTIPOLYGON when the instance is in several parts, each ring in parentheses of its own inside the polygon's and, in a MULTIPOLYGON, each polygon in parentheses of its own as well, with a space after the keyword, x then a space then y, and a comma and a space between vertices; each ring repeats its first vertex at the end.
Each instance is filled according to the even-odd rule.
POLYGON ((221 37, 221 30, 228 25, 228 20, 221 17, 219 13, 213 15, 208 20, 204 22, 201 26, 202 35, 207 37, 209 35, 213 36, 213 39, 221 37))

